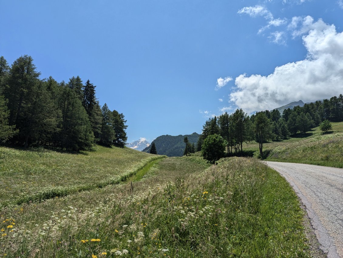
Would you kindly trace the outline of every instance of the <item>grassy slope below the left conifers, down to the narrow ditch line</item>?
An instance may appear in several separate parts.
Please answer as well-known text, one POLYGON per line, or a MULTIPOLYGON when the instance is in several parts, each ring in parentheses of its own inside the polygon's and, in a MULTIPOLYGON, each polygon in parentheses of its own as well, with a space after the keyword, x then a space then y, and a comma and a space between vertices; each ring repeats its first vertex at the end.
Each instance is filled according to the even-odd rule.
POLYGON ((83 154, 0 147, 0 207, 115 184, 156 157, 99 145, 83 154))

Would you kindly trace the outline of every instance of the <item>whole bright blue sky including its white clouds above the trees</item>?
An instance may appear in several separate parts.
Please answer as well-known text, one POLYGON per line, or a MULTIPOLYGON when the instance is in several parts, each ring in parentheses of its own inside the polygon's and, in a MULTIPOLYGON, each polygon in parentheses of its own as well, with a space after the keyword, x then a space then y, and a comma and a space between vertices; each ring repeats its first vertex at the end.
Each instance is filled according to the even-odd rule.
POLYGON ((79 75, 128 141, 343 93, 343 1, 4 1, 0 55, 79 75))

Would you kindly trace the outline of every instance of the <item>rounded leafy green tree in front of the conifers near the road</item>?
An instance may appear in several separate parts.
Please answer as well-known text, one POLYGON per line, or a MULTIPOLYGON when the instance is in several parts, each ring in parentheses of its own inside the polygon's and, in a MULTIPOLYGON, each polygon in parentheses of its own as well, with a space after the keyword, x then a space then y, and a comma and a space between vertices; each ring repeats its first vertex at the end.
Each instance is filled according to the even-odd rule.
POLYGON ((224 156, 227 142, 218 134, 206 137, 201 146, 201 154, 205 160, 212 164, 224 156))

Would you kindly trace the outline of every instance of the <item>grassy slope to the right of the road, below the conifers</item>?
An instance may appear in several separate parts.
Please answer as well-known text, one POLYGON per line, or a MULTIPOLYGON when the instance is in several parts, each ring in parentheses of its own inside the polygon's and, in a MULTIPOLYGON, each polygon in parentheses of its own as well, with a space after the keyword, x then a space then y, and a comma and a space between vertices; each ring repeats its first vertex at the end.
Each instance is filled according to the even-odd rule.
MULTIPOLYGON (((247 151, 258 153, 258 143, 247 144, 247 151)), ((343 122, 332 123, 332 130, 322 134, 314 128, 303 138, 263 144, 266 160, 343 167, 343 122)))

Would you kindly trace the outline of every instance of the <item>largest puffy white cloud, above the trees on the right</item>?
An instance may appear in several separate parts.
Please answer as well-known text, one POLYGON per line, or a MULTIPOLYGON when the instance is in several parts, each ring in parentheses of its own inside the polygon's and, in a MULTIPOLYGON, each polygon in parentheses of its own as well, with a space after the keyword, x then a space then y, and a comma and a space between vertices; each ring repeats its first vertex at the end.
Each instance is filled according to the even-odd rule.
MULTIPOLYGON (((235 79, 230 101, 248 113, 272 109, 292 101, 330 98, 343 92, 343 32, 321 19, 296 18, 296 35, 303 35, 304 60, 276 67, 272 74, 235 79), (300 23, 301 22, 301 23, 300 23)), ((292 20, 293 22, 293 20, 292 20)))

